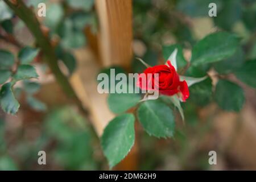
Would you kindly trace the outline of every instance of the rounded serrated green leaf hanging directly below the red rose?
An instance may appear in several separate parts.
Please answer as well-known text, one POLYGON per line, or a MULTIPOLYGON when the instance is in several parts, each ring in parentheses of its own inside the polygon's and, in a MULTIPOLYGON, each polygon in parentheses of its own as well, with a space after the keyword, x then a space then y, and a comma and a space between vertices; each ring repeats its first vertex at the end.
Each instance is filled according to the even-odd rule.
POLYGON ((175 122, 172 110, 164 102, 148 100, 143 102, 137 111, 139 122, 148 134, 155 137, 172 137, 175 122))

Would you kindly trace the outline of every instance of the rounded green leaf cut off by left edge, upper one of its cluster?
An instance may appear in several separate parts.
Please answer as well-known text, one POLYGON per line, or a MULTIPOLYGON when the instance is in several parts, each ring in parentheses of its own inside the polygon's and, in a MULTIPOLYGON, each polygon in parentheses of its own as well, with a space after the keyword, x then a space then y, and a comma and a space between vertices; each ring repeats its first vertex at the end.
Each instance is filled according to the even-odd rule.
POLYGON ((3 49, 0 49, 0 68, 1 69, 9 69, 14 64, 14 55, 3 49))

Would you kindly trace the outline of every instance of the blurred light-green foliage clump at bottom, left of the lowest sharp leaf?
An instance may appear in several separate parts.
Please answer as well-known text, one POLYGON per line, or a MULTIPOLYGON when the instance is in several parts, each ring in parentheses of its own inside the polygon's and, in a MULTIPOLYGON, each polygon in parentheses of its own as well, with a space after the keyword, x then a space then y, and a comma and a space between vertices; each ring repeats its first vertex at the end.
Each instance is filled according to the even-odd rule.
POLYGON ((92 134, 85 125, 85 118, 71 107, 51 111, 44 123, 44 134, 57 144, 52 151, 53 160, 68 170, 92 170, 92 134))

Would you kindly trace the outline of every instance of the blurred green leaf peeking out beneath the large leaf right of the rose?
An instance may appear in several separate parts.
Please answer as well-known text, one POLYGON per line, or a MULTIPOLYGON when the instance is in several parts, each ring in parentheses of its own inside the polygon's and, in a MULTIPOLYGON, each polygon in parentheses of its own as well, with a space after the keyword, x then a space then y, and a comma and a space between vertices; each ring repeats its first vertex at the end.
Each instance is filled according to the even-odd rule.
POLYGON ((220 61, 218 63, 214 63, 214 69, 221 74, 228 74, 236 71, 236 69, 240 68, 245 59, 242 48, 238 48, 237 52, 234 53, 232 57, 220 61))

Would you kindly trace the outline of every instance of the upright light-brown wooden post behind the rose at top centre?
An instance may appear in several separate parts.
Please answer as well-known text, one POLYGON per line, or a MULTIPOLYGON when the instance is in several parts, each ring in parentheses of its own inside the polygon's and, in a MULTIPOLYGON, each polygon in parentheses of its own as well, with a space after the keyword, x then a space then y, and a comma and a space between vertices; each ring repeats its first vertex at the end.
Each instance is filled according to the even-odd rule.
POLYGON ((96 0, 99 18, 98 45, 104 67, 119 65, 129 69, 132 58, 131 0, 96 0))

